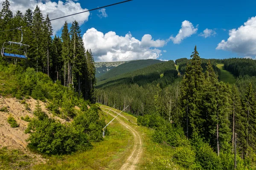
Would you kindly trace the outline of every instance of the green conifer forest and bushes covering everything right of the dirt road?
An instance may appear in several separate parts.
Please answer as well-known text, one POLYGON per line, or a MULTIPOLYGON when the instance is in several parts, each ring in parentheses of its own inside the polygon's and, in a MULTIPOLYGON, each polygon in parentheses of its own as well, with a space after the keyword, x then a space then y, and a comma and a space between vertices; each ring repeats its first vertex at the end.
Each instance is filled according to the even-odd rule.
POLYGON ((221 72, 215 65, 223 62, 226 67, 254 61, 207 61, 199 57, 195 47, 191 59, 176 60, 176 64, 183 64, 181 69, 185 69, 181 82, 177 79, 175 63, 169 61, 138 70, 141 75, 148 71, 138 82, 134 81, 137 71, 99 82, 96 98, 102 104, 115 105, 121 110, 129 105, 127 111, 138 116, 138 125, 156 129, 155 142, 177 147, 175 159, 184 167, 234 169, 236 143, 237 169, 255 168, 256 77, 241 74, 245 70, 241 66, 240 76, 230 87, 218 80, 221 72), (160 71, 160 65, 168 69, 160 71), (173 74, 166 76, 165 72, 169 71, 173 74), (164 77, 169 81, 162 81, 164 77))

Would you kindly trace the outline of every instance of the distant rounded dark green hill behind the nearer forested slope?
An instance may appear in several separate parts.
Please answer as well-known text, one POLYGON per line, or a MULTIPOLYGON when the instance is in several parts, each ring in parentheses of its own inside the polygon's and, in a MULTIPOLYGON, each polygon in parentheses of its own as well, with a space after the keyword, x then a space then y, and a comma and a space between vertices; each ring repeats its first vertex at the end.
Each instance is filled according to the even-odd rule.
POLYGON ((98 81, 102 81, 105 79, 109 79, 111 77, 124 74, 130 71, 138 70, 140 68, 145 68, 149 65, 161 63, 163 61, 157 60, 157 59, 142 59, 142 60, 135 60, 123 63, 121 65, 118 65, 117 67, 111 69, 110 71, 103 74, 101 77, 98 78, 98 81))

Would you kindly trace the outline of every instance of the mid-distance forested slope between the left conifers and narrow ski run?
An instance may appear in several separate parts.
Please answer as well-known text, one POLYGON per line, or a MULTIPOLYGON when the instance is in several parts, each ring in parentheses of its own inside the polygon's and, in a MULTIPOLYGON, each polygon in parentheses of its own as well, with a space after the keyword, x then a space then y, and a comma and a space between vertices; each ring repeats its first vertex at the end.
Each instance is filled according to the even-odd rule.
POLYGON ((172 60, 150 65, 100 82, 96 86, 96 102, 111 107, 115 105, 115 108, 121 110, 129 105, 125 111, 137 116, 153 113, 155 92, 166 88, 165 92, 169 94, 167 85, 172 84, 176 78, 177 71, 172 60))

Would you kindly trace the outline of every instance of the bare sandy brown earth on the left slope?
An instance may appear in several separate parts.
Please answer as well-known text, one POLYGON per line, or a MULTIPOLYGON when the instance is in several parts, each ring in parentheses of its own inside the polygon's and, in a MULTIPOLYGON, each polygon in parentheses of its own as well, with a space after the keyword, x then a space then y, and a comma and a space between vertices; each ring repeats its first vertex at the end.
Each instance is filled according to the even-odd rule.
MULTIPOLYGON (((46 162, 46 159, 43 159, 41 155, 32 153, 28 150, 26 139, 28 139, 29 134, 25 134, 24 130, 27 128, 29 122, 21 120, 21 116, 25 117, 28 115, 30 118, 34 117, 33 111, 35 111, 37 101, 35 99, 25 99, 26 103, 29 105, 29 110, 26 110, 25 105, 21 104, 20 101, 16 98, 6 98, 0 96, 0 109, 6 107, 7 112, 0 111, 0 148, 7 147, 8 149, 17 149, 21 150, 23 153, 26 153, 28 156, 31 156, 34 164, 41 162, 46 162), (19 127, 11 127, 7 122, 9 115, 12 116, 17 121, 19 127)), ((48 113, 45 108, 46 103, 39 101, 42 111, 52 116, 48 113)), ((52 116, 53 117, 53 116, 52 116)), ((60 120, 62 123, 66 120, 59 117, 54 117, 54 119, 60 120)))

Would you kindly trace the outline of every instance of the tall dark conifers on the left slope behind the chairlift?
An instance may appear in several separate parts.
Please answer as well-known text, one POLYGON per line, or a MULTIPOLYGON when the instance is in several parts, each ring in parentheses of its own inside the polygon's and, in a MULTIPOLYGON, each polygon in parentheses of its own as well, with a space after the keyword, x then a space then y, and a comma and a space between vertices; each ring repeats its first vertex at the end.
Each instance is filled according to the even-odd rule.
MULTIPOLYGON (((52 39, 52 26, 48 17, 44 18, 38 6, 25 14, 10 10, 8 0, 3 2, 0 12, 0 31, 28 26, 23 31, 23 44, 30 45, 28 59, 0 59, 0 62, 32 67, 37 72, 43 72, 53 80, 59 80, 65 87, 73 88, 84 99, 92 99, 96 83, 94 60, 92 52, 85 50, 81 37, 79 23, 75 20, 70 29, 64 23, 61 37, 52 39)), ((21 32, 17 29, 0 33, 0 44, 3 42, 19 42, 21 32)))

